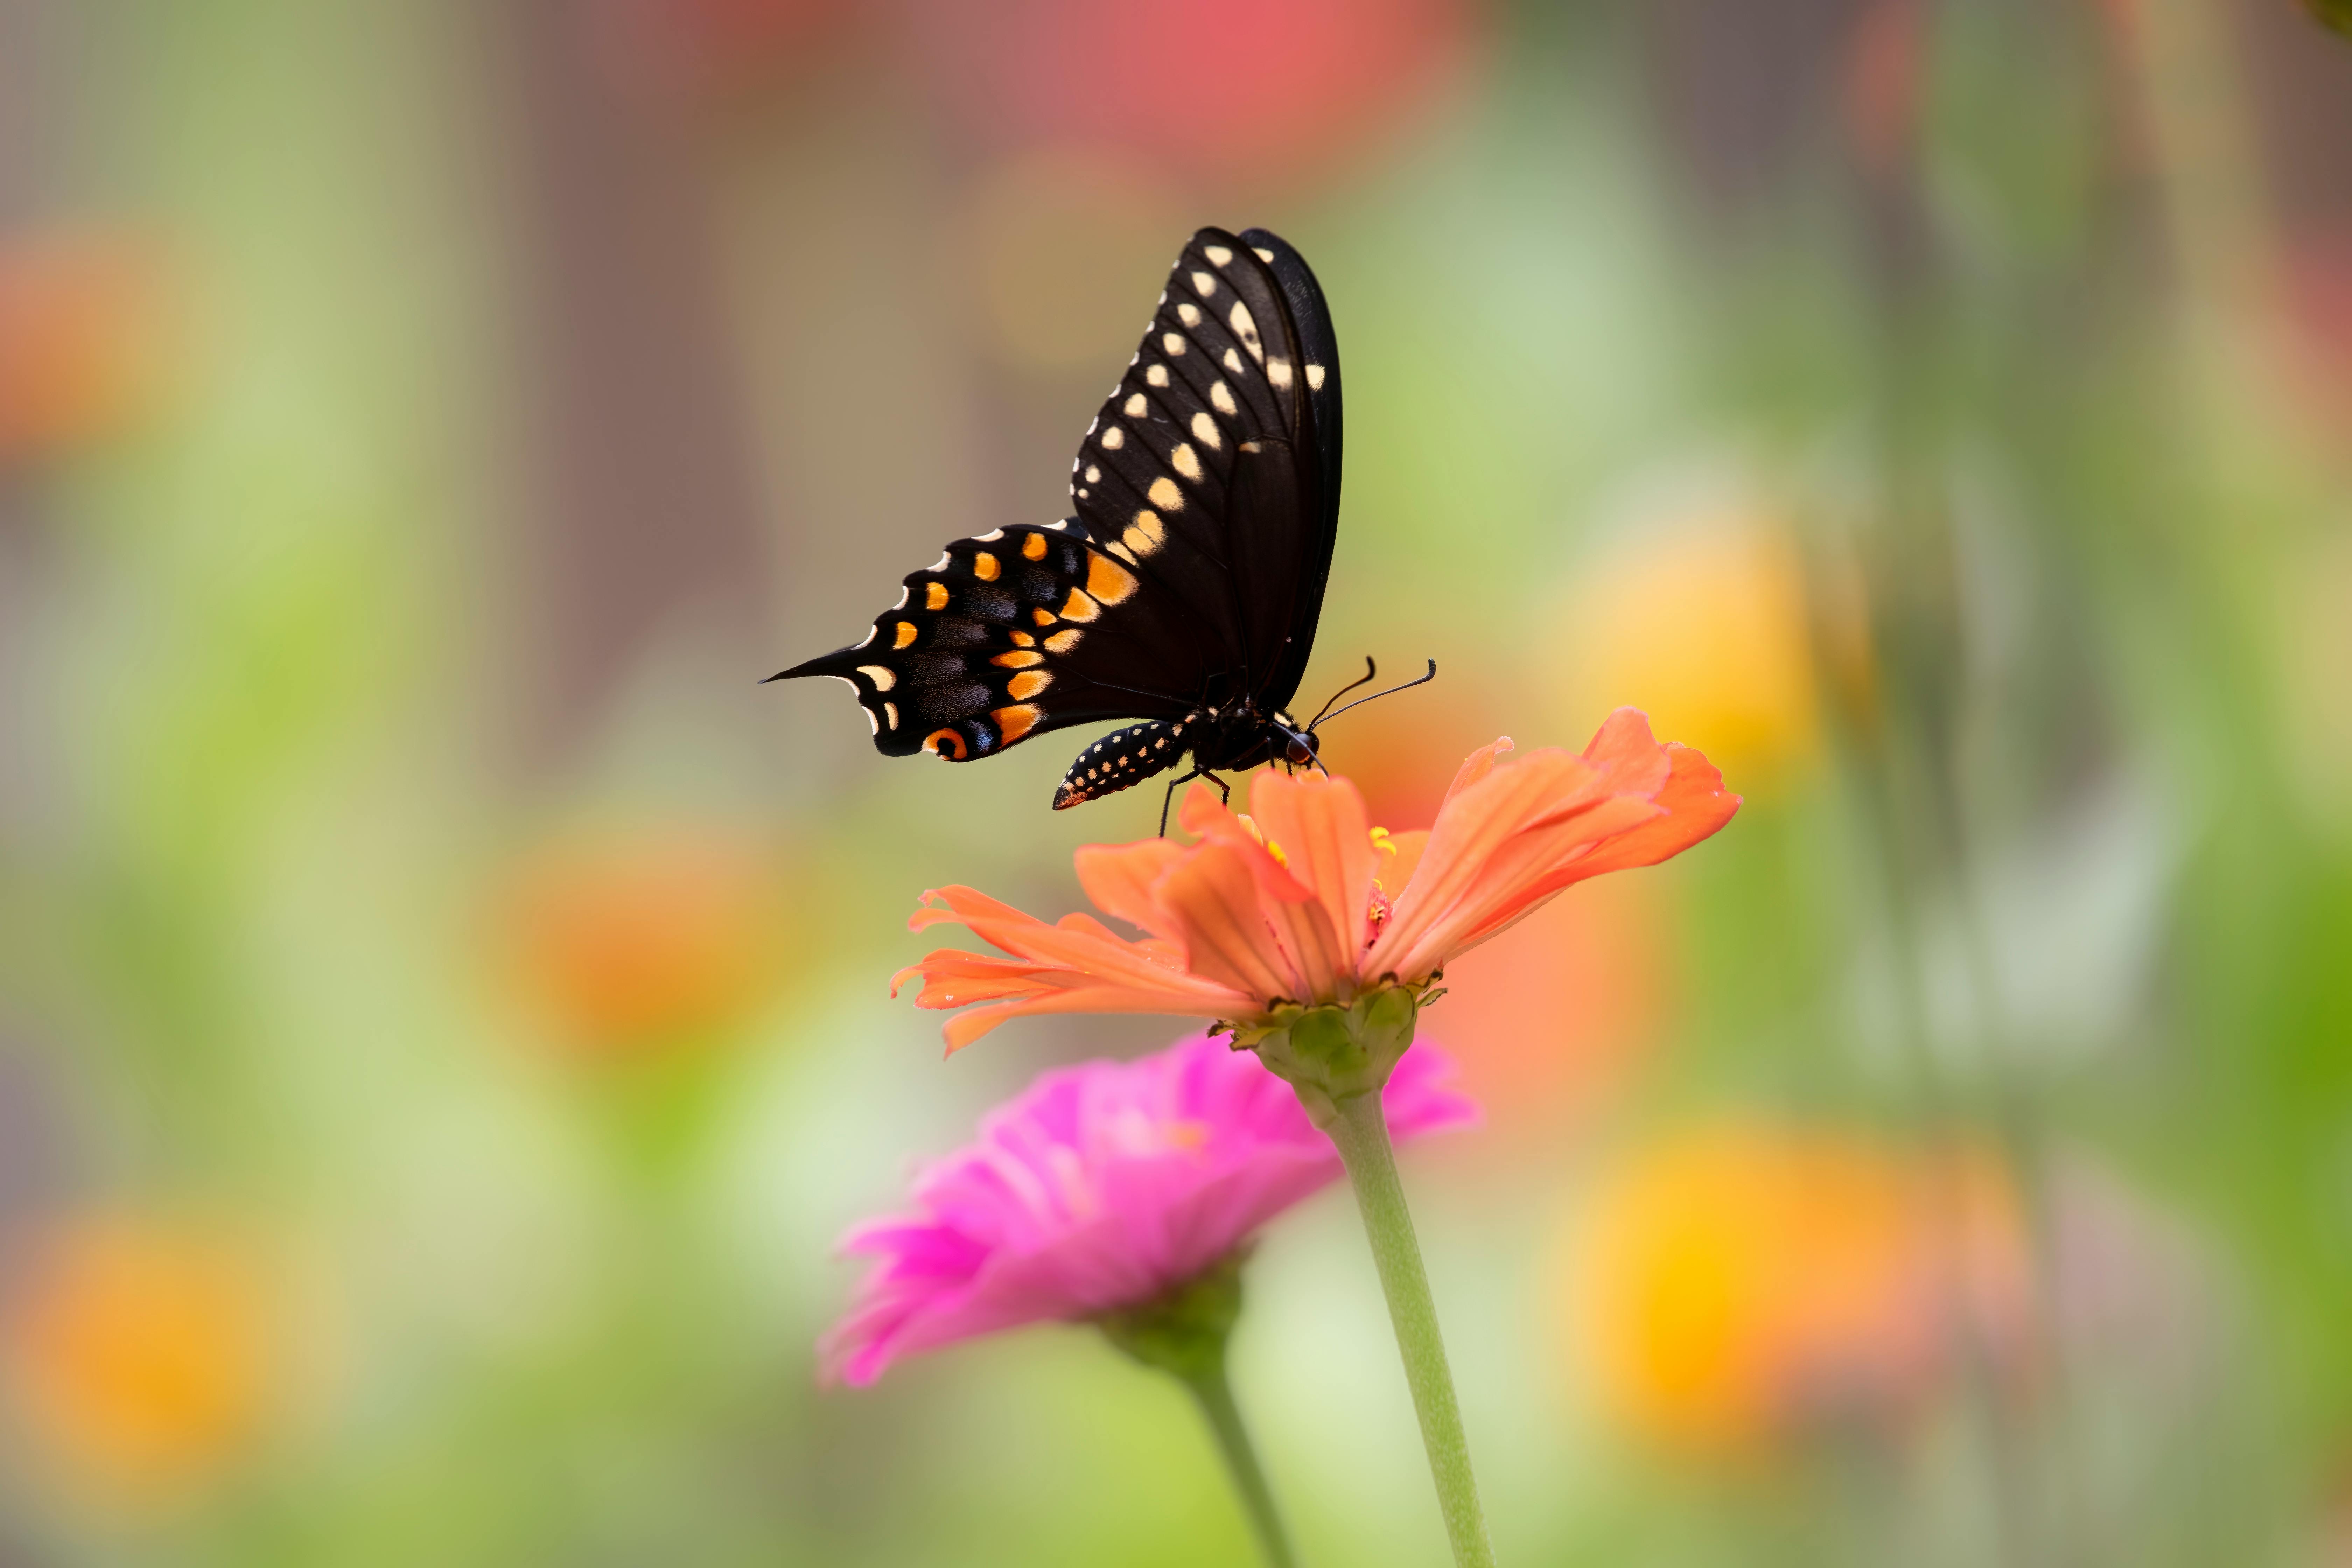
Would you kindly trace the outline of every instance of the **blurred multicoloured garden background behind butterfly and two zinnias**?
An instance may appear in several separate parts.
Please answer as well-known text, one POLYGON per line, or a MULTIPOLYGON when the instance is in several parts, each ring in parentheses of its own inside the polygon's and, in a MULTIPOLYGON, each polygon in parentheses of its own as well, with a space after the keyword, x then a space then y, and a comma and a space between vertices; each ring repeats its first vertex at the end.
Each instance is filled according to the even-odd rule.
MULTIPOLYGON (((1033 1072, 1082 736, 823 682, 1058 517, 1181 240, 1329 292, 1376 820, 1637 703, 1745 811, 1449 976, 1505 1563, 2352 1563, 2352 45, 2288 0, 0 0, 0 1563, 1221 1563, 1174 1385, 818 1389, 1033 1072)), ((1150 797, 1150 799, 1145 799, 1150 797)), ((1308 1561, 1437 1512, 1341 1192, 1308 1561)))

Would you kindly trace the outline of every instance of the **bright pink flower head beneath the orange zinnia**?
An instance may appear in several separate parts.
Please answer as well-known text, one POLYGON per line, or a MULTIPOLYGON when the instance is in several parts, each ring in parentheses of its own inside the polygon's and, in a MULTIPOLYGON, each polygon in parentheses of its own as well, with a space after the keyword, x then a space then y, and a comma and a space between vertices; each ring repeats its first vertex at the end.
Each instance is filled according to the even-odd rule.
MULTIPOLYGON (((1406 1051, 1383 1091, 1397 1138, 1477 1119, 1451 1074, 1432 1046, 1406 1051)), ((1338 1175, 1289 1084, 1223 1039, 1047 1072, 915 1178, 915 1213, 842 1239, 880 1262, 821 1371, 863 1387, 922 1349, 1138 1307, 1338 1175)))

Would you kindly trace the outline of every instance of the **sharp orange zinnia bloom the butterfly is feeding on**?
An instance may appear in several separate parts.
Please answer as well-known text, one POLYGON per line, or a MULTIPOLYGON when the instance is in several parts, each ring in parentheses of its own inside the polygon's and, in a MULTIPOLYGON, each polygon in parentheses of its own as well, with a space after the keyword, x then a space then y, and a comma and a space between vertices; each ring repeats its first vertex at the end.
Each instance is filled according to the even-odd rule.
POLYGON ((1503 738, 1470 752, 1437 823, 1395 837, 1371 827, 1345 778, 1261 773, 1251 816, 1195 785, 1183 825, 1197 844, 1077 851, 1087 896, 1143 940, 1091 914, 1047 924, 950 886, 924 893, 910 924, 957 922, 1011 957, 941 947, 894 990, 920 973, 920 1006, 983 1004, 948 1020, 948 1051, 1021 1013, 1218 1018, 1258 1044, 1324 1006, 1348 1009, 1357 1032, 1376 1023, 1367 1006, 1385 1006, 1409 1041, 1411 1009, 1454 954, 1573 882, 1689 849, 1740 804, 1705 757, 1653 741, 1632 708, 1583 755, 1548 748, 1505 764, 1508 750, 1503 738), (1388 1001, 1399 992, 1402 1018, 1388 1001))

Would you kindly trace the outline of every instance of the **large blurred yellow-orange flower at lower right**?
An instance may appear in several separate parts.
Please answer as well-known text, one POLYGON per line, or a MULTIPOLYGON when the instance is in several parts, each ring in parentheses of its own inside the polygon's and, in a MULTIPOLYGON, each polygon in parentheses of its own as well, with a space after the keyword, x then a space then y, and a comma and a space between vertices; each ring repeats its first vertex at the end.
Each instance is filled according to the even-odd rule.
POLYGON ((1602 1180, 1571 1300, 1616 1420, 1738 1455, 1893 1425, 1969 1356, 2016 1361, 2027 1267, 2016 1190, 1983 1150, 1719 1126, 1602 1180))

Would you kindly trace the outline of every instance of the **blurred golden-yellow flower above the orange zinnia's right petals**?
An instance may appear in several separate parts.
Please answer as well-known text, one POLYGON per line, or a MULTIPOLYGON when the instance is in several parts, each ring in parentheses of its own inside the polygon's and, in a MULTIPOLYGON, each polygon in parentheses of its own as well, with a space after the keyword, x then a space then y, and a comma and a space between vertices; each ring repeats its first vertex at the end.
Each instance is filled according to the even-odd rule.
POLYGON ((1552 668, 1564 717, 1632 705, 1738 778, 1813 750, 1804 567, 1788 529, 1743 508, 1665 522, 1578 576, 1552 668))

